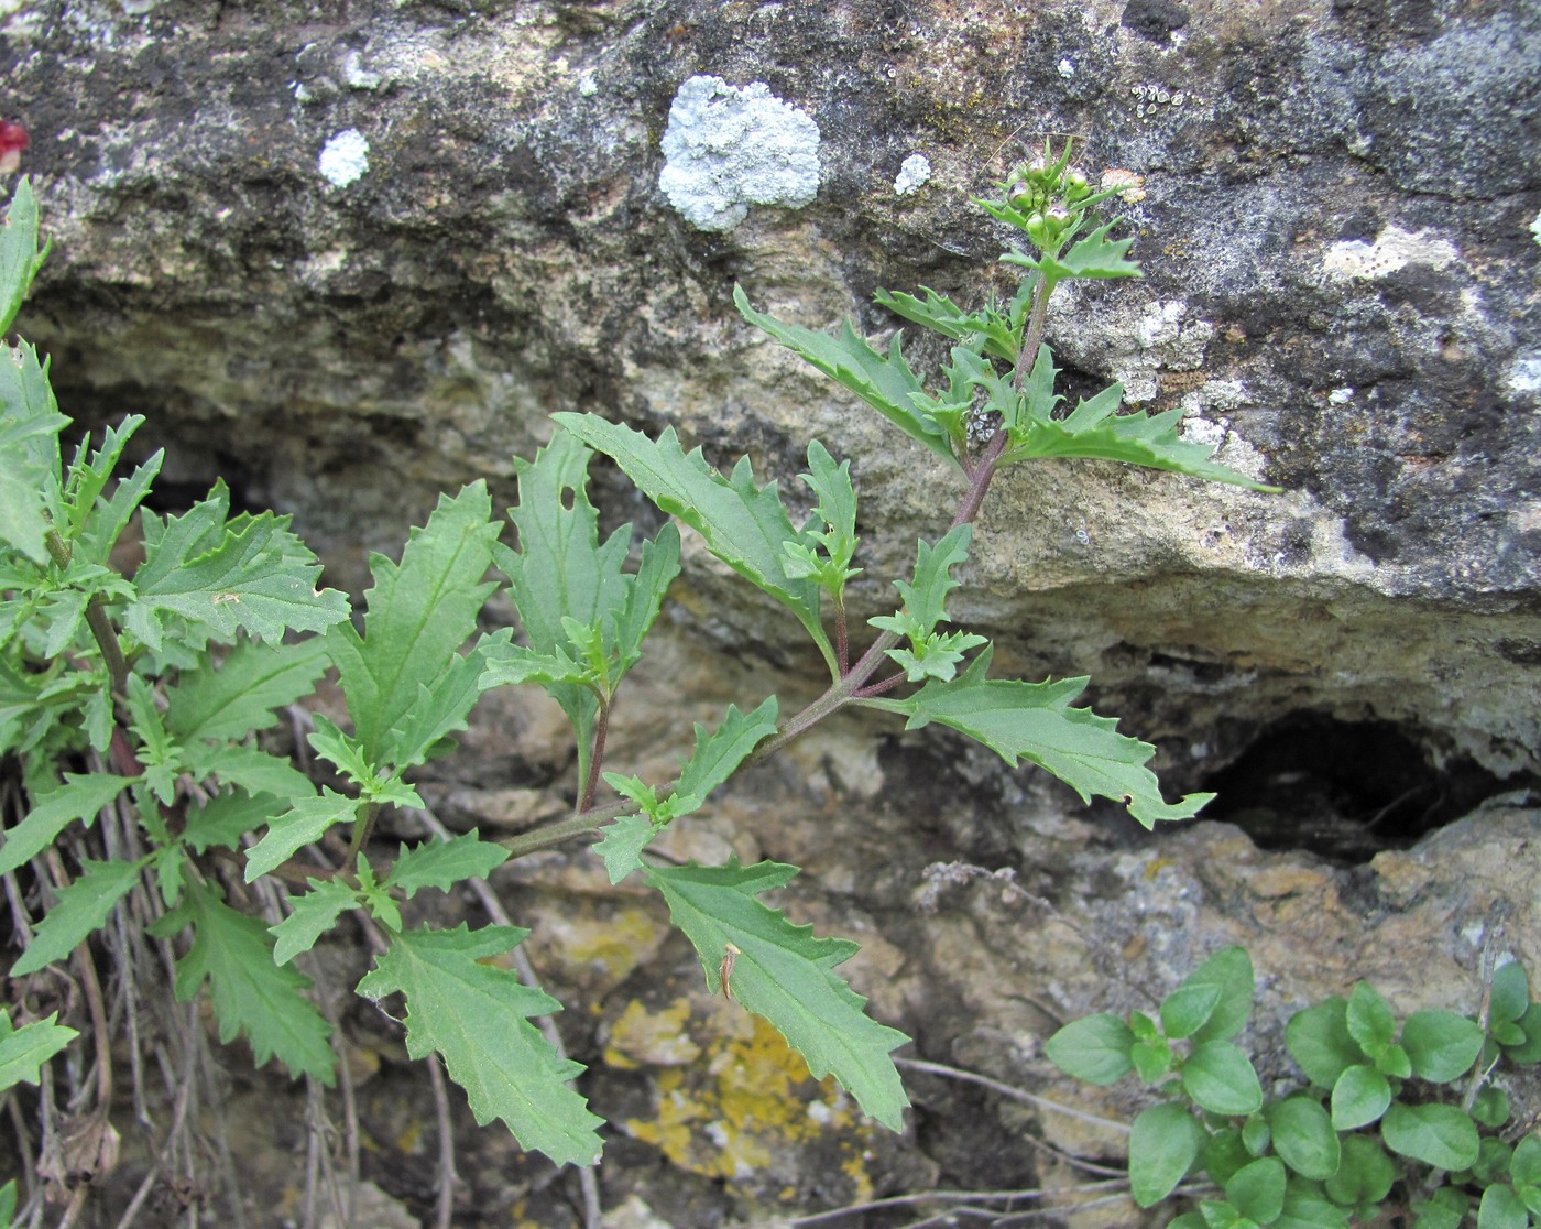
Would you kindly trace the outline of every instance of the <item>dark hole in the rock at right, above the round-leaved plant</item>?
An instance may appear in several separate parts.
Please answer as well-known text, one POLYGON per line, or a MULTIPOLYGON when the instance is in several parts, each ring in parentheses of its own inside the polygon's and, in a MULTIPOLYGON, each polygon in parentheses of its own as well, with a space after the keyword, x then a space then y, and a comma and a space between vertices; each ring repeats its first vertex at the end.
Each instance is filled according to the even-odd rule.
POLYGON ((1436 766, 1390 722, 1296 712, 1265 726, 1210 776, 1204 819, 1242 828, 1264 850, 1304 850, 1342 865, 1405 850, 1506 783, 1470 759, 1436 766))

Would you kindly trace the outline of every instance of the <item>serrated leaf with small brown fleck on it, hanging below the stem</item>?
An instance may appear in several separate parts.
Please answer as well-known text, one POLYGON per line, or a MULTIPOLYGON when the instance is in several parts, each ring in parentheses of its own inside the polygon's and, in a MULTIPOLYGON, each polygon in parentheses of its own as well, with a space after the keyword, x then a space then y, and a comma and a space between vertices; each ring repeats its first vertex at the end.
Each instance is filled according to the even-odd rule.
POLYGON ((795 874, 797 867, 740 867, 734 859, 726 867, 650 867, 647 884, 664 894, 673 924, 695 944, 713 993, 732 944, 734 998, 774 1024, 815 1079, 834 1075, 868 1116, 903 1130, 909 1099, 889 1050, 909 1038, 865 1015, 866 999, 834 971, 857 945, 815 939, 812 927, 792 925, 757 899, 795 874))

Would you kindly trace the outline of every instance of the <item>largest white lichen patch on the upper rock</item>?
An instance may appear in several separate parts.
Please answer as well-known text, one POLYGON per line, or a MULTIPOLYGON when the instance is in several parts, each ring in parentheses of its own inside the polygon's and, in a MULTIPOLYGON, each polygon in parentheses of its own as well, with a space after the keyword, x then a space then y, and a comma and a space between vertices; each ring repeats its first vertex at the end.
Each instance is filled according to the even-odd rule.
POLYGON ((690 77, 669 108, 658 187, 697 230, 727 231, 749 205, 800 208, 818 193, 818 125, 764 82, 690 77))

